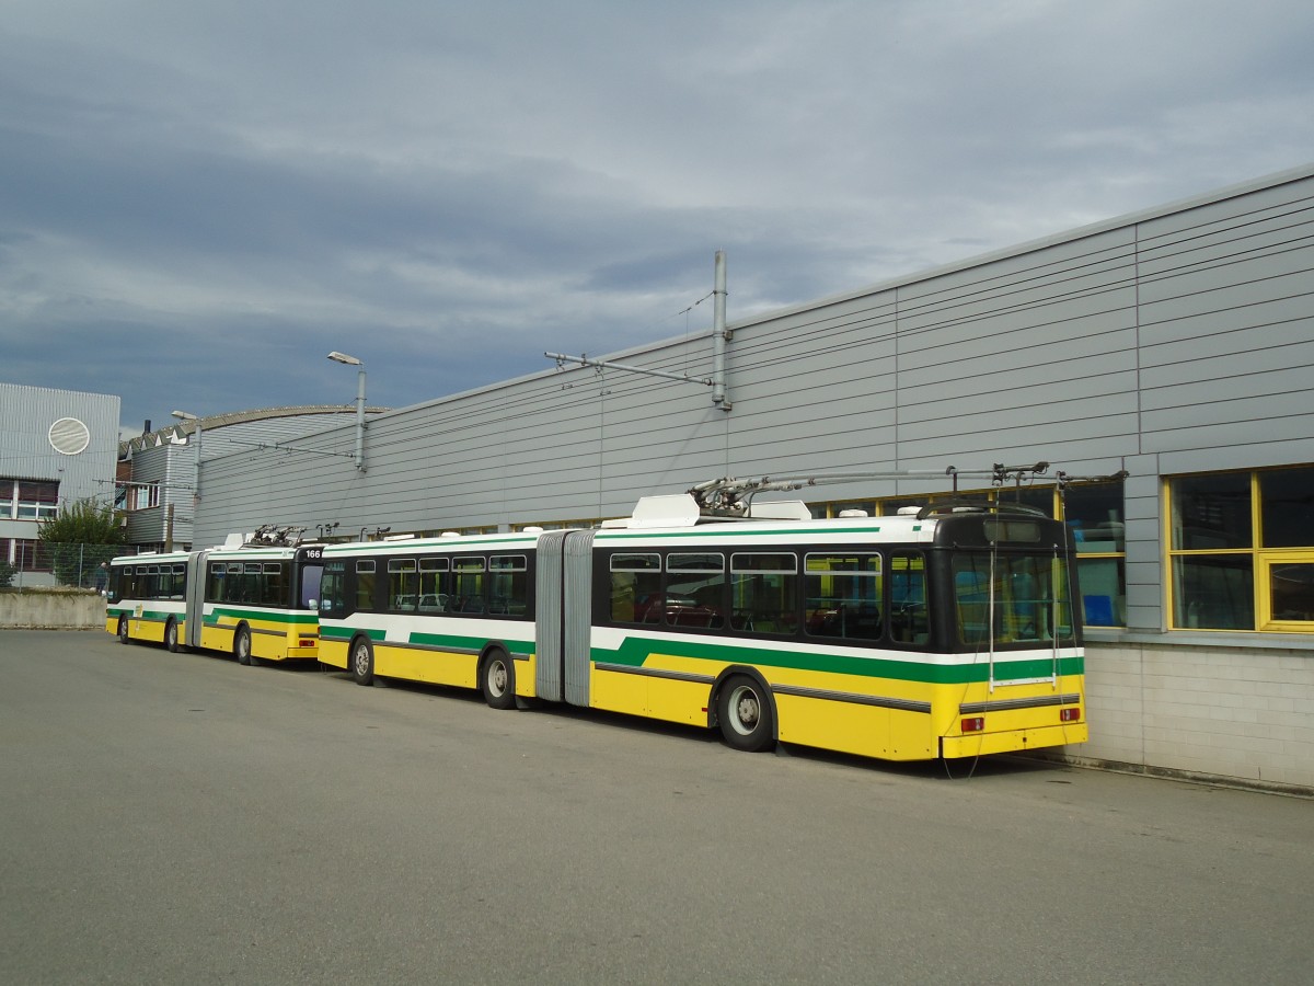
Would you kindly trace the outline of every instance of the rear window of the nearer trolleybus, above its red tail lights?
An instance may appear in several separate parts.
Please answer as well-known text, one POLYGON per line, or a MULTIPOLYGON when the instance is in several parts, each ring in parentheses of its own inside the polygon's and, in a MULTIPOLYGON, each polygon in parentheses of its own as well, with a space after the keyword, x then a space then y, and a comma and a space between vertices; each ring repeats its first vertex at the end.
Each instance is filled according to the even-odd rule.
POLYGON ((954 601, 959 643, 974 649, 1076 643, 1067 567, 1055 555, 955 555, 954 601))

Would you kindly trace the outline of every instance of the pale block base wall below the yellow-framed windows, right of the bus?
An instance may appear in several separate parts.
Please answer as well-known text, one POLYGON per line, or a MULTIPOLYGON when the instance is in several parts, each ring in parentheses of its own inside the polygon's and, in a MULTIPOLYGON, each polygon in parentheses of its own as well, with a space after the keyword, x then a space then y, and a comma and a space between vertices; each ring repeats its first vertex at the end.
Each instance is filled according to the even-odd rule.
POLYGON ((1074 761, 1314 790, 1314 655, 1087 642, 1074 761))

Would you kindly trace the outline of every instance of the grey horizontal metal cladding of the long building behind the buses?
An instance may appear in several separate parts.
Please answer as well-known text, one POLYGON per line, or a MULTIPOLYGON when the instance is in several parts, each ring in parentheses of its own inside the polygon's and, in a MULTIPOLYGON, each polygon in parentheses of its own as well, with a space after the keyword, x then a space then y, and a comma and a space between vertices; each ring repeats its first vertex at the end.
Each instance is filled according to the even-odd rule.
MULTIPOLYGON (((573 368, 371 419, 365 473, 352 427, 296 443, 331 456, 208 461, 197 536, 595 518, 721 475, 1047 460, 1130 471, 1127 618, 1159 628, 1159 477, 1314 461, 1311 216, 1303 168, 732 325, 729 413, 706 387, 573 368)), ((700 376, 711 342, 612 359, 700 376)))

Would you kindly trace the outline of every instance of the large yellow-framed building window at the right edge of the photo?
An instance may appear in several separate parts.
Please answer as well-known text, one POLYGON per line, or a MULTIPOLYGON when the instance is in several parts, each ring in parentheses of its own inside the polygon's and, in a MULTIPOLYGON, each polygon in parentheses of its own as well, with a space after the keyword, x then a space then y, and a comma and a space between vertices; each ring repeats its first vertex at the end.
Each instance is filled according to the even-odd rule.
POLYGON ((1314 631, 1314 467, 1168 481, 1173 630, 1314 631))

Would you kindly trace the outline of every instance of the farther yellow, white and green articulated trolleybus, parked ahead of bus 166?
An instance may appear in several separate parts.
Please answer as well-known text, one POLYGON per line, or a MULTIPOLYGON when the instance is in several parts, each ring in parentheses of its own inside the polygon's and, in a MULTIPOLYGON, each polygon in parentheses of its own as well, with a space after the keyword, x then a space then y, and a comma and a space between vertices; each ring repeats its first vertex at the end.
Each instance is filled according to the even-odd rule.
POLYGON ((261 527, 240 546, 116 557, 105 630, 125 644, 223 651, 239 664, 314 660, 323 546, 298 534, 261 527))

